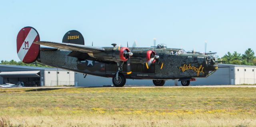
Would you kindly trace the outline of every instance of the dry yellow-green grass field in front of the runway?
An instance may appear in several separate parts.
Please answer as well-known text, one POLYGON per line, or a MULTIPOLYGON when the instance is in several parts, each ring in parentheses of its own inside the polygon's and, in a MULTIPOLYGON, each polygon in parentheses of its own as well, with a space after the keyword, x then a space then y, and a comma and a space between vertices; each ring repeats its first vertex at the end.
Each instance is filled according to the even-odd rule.
POLYGON ((2 88, 0 117, 11 127, 256 127, 256 88, 2 88))

